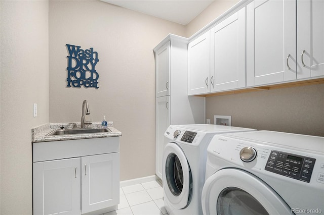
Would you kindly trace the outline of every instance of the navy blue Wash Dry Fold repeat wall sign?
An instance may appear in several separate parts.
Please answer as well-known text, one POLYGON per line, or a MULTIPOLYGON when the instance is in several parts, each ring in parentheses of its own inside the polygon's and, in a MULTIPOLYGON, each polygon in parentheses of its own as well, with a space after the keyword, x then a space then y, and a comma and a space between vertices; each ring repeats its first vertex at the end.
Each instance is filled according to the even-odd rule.
POLYGON ((66 44, 69 52, 67 65, 67 87, 98 87, 99 74, 95 66, 99 62, 98 52, 93 48, 83 50, 77 45, 66 44))

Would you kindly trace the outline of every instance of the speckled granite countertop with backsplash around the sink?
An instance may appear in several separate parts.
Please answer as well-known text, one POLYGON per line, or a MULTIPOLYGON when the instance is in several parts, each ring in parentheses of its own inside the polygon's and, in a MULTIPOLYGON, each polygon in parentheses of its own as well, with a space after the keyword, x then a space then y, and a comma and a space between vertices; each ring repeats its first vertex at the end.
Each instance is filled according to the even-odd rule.
MULTIPOLYGON (((81 126, 80 123, 47 123, 31 129, 31 142, 48 142, 121 136, 121 132, 113 127, 112 122, 108 122, 107 127, 111 132, 46 136, 48 133, 56 129, 60 129, 60 127, 64 127, 64 129, 73 129, 80 128, 81 126)), ((86 126, 86 128, 103 128, 103 126, 101 125, 101 122, 92 122, 92 124, 86 126)))

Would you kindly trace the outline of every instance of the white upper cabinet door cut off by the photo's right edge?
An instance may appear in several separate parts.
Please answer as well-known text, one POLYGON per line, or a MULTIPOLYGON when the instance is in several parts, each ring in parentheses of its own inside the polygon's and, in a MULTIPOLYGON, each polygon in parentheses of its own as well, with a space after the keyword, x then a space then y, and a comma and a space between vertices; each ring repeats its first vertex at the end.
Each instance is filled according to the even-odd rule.
POLYGON ((324 75, 324 1, 297 1, 297 78, 324 75))

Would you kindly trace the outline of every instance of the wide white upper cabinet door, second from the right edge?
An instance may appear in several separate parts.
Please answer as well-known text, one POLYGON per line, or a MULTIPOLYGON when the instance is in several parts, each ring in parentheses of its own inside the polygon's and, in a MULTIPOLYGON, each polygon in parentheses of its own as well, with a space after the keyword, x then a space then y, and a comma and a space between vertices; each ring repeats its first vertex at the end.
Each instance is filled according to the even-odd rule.
POLYGON ((247 6, 247 86, 295 80, 296 1, 247 6))

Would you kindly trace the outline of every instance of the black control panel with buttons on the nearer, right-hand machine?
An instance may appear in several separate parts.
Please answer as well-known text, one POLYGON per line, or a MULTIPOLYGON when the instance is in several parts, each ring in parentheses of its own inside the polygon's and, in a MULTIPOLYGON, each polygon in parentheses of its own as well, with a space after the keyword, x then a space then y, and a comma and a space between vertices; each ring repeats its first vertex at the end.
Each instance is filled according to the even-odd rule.
POLYGON ((271 150, 265 170, 309 183, 315 158, 271 150))

